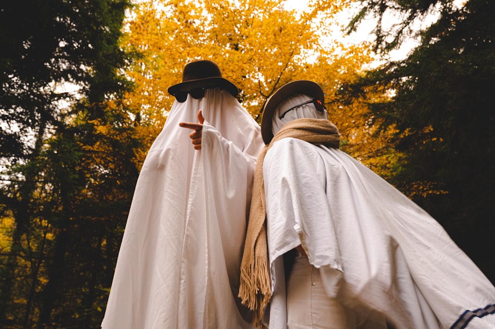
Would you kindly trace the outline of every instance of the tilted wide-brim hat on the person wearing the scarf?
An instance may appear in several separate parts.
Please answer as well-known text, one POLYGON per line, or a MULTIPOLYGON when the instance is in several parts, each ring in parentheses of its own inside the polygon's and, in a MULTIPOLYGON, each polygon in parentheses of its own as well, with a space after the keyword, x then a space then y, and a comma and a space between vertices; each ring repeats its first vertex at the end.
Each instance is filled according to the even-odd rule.
POLYGON ((263 107, 263 114, 261 116, 261 137, 265 144, 268 144, 273 138, 272 132, 272 118, 273 112, 277 106, 286 98, 295 94, 305 94, 312 98, 316 98, 325 103, 323 89, 312 81, 309 80, 296 80, 289 82, 275 91, 266 100, 263 107))

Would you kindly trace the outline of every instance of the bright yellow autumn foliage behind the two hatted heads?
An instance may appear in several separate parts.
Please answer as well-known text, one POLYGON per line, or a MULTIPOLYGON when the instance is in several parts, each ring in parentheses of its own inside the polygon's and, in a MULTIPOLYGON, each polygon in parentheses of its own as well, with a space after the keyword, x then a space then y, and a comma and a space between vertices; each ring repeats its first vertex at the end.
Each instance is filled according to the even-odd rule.
POLYGON ((211 59, 241 89, 239 99, 255 118, 266 99, 287 82, 317 82, 324 89, 330 120, 350 145, 344 149, 370 167, 386 168, 366 163, 388 147, 386 136, 371 138, 366 104, 357 99, 344 106, 337 95, 343 83, 354 81, 373 60, 369 45, 339 41, 342 27, 336 15, 349 3, 313 0, 296 11, 288 10, 284 0, 140 2, 128 16, 122 41, 122 47, 143 54, 125 72, 137 87, 127 94, 125 105, 139 118, 135 133, 145 141, 144 149, 136 150, 138 167, 174 101, 168 87, 181 82, 182 69, 191 60, 211 59))

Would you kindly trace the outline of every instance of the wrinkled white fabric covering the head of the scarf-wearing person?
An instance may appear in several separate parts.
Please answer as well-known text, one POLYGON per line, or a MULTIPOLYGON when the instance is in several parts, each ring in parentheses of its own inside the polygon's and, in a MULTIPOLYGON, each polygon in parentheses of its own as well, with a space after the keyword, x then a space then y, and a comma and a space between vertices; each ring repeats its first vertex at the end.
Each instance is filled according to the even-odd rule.
POLYGON ((313 119, 328 119, 327 110, 323 110, 323 112, 318 112, 312 103, 304 104, 302 106, 298 106, 293 110, 287 112, 282 119, 280 116, 290 109, 293 106, 302 104, 312 98, 305 94, 294 94, 283 101, 275 108, 273 111, 272 118, 272 133, 275 136, 280 128, 286 123, 302 118, 313 118, 313 119))

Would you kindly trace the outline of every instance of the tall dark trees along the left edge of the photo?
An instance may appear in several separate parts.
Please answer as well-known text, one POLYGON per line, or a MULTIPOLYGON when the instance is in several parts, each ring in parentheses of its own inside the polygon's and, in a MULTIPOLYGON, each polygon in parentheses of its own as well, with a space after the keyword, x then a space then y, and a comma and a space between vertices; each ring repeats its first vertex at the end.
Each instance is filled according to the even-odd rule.
MULTIPOLYGON (((130 87, 126 77, 117 74, 129 60, 119 47, 128 7, 126 0, 21 0, 0 7, 0 157, 6 168, 0 209, 2 221, 13 220, 6 227, 9 241, 0 256, 3 328, 68 328, 64 323, 73 319, 74 306, 81 302, 68 293, 83 297, 79 307, 90 308, 97 299, 91 291, 81 294, 72 285, 73 279, 64 275, 70 269, 86 275, 81 269, 95 263, 87 256, 67 257, 68 253, 85 255, 71 252, 71 248, 78 249, 71 236, 82 232, 74 223, 87 227, 98 222, 96 209, 91 212, 84 202, 98 191, 88 189, 95 181, 99 187, 109 188, 108 181, 115 184, 129 173, 133 174, 129 175, 131 181, 136 177, 132 163, 118 169, 110 166, 125 164, 131 158, 129 152, 108 158, 97 153, 101 145, 121 152, 124 143, 133 144, 111 135, 99 139, 97 126, 103 122, 113 125, 114 131, 129 130, 129 125, 116 120, 117 112, 110 116, 107 111, 109 102, 130 87), (71 87, 74 92, 64 91, 71 87), (125 157, 119 158, 122 155, 125 157), (95 160, 84 166, 90 158, 98 159, 99 165, 95 160), (71 288, 62 290, 64 285, 71 288)), ((123 203, 126 209, 130 195, 124 194, 122 202, 114 203, 123 203)), ((101 207, 105 200, 101 193, 98 197, 94 207, 101 207)), ((114 210, 113 217, 120 217, 118 223, 125 220, 121 207, 117 207, 119 211, 108 207, 114 210)), ((115 222, 108 224, 112 234, 115 222)), ((97 232, 96 225, 91 227, 97 232)), ((105 234, 108 232, 100 232, 105 234)), ((93 239, 101 242, 98 245, 88 236, 80 235, 80 241, 91 243, 89 255, 101 258, 102 237, 93 239)), ((97 273, 90 275, 96 277, 97 273)), ((94 324, 99 321, 95 318, 84 323, 94 324)), ((84 323, 79 327, 89 328, 84 323)))

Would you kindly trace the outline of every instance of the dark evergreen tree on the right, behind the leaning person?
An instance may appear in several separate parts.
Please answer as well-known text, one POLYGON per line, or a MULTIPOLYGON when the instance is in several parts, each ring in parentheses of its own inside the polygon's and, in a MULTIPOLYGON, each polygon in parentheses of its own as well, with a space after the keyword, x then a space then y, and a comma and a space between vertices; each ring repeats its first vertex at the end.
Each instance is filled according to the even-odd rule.
POLYGON ((398 45, 413 18, 438 9, 439 19, 418 31, 421 44, 407 58, 368 72, 353 90, 380 85, 394 94, 386 102, 371 102, 370 108, 382 129, 395 130, 397 149, 405 154, 396 186, 438 219, 495 282, 494 264, 482 256, 495 247, 495 3, 363 3, 357 18, 369 12, 380 16, 391 8, 403 14, 396 31, 385 33, 377 25, 383 50, 398 45))

